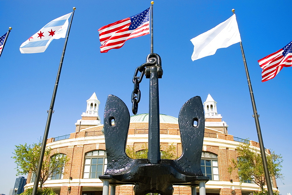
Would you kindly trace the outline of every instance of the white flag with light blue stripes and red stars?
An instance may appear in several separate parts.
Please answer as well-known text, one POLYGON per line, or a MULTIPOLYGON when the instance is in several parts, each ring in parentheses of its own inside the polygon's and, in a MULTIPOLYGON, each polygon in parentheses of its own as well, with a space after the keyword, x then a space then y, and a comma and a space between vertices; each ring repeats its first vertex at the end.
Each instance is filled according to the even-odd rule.
POLYGON ((71 13, 63 15, 52 20, 32 35, 27 41, 21 44, 19 50, 21 53, 40 53, 46 51, 53 39, 65 38, 68 29, 68 18, 71 13))

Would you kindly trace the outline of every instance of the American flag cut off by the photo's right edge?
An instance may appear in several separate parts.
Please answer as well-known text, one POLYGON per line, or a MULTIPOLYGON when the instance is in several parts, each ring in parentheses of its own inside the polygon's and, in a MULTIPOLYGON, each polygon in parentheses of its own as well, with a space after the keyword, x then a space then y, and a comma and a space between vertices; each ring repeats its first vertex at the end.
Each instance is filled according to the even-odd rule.
POLYGON ((292 41, 284 48, 258 60, 262 71, 262 82, 273 79, 283 67, 292 67, 292 41))

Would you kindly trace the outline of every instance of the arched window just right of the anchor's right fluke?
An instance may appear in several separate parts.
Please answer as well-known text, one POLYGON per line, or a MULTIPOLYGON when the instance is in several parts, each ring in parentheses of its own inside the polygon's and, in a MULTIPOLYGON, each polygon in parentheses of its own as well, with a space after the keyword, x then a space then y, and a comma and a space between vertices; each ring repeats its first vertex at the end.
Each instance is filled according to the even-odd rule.
POLYGON ((202 152, 201 170, 210 180, 219 181, 218 156, 210 152, 202 152))

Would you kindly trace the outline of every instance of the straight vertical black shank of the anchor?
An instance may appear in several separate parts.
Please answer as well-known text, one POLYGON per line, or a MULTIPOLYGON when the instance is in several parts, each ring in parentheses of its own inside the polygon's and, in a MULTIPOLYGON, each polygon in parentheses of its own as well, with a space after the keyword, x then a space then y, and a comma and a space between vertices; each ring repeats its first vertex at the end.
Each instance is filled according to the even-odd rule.
POLYGON ((159 163, 159 91, 157 66, 150 67, 149 86, 149 130, 148 130, 148 160, 150 163, 159 163))

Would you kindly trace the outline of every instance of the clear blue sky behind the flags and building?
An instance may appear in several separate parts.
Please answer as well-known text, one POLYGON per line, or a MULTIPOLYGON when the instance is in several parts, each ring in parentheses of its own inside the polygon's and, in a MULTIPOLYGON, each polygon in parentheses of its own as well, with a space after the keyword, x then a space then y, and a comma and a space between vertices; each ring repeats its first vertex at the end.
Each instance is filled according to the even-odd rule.
MULTIPOLYGON (((100 53, 98 29, 150 6, 147 1, 1 1, 0 36, 12 27, 0 59, 1 136, 0 193, 8 195, 16 171, 14 146, 38 142, 43 136, 46 110, 51 102, 65 39, 53 40, 44 53, 21 54, 19 46, 51 20, 77 10, 71 27, 49 137, 74 132, 74 123, 86 110, 93 92, 103 116, 107 95, 120 97, 131 107, 135 68, 150 53, 150 36, 126 41, 108 53, 100 53)), ((234 8, 256 99, 264 145, 284 162, 281 194, 292 193, 291 176, 291 74, 283 68, 272 80, 261 83, 257 60, 292 40, 287 14, 289 1, 155 1, 154 52, 162 59, 159 79, 160 113, 178 117, 181 106, 208 93, 218 102, 218 113, 235 137, 258 141, 239 43, 219 49, 215 55, 192 62, 193 37, 232 15, 234 8), (287 33, 288 32, 288 33, 287 33)), ((140 84, 138 114, 148 112, 149 80, 140 84)))

